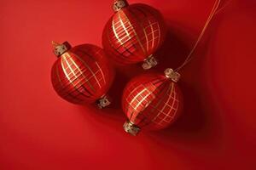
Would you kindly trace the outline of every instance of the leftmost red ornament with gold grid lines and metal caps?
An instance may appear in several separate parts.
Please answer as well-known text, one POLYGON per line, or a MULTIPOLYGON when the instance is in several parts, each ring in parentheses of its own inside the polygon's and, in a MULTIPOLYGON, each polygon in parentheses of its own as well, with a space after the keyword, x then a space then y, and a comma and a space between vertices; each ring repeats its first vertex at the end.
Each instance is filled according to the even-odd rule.
POLYGON ((71 48, 68 42, 53 42, 58 56, 51 81, 61 98, 74 104, 93 103, 102 108, 110 104, 106 97, 113 82, 113 70, 102 48, 82 44, 71 48))

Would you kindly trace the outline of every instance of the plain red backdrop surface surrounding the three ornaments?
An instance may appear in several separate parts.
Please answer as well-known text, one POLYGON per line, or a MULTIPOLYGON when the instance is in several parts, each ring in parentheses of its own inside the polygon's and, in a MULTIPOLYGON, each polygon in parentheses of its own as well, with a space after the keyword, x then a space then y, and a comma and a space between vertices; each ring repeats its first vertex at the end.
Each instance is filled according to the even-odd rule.
MULTIPOLYGON (((167 20, 162 71, 188 54, 214 0, 130 1, 137 2, 167 20)), ((1 1, 0 169, 255 169, 255 1, 232 0, 212 20, 181 72, 183 116, 137 137, 122 129, 119 98, 138 65, 117 74, 116 102, 104 111, 67 103, 50 83, 51 40, 101 46, 111 3, 1 1)))

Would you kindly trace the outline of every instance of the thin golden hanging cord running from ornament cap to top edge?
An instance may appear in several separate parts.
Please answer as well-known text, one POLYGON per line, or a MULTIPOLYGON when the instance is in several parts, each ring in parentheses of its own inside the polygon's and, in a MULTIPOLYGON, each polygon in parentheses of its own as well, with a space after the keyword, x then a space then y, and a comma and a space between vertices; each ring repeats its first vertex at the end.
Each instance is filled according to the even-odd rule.
MULTIPOLYGON (((231 0, 230 0, 231 1, 231 0)), ((205 31, 207 30, 207 26, 209 25, 210 21, 212 20, 212 17, 214 16, 214 14, 218 14, 221 10, 223 10, 229 3, 226 3, 222 8, 219 8, 219 4, 221 2, 221 0, 215 0, 214 2, 214 5, 213 5, 213 8, 212 8, 212 11, 211 13, 209 14, 209 17, 206 21, 206 24, 205 26, 203 27, 203 29, 201 30, 201 34, 199 35, 199 37, 197 38, 196 42, 195 42, 195 45, 194 47, 191 49, 189 55, 187 56, 187 58, 184 60, 183 64, 180 65, 179 67, 177 67, 177 69, 175 71, 179 71, 180 69, 183 68, 184 65, 187 65, 189 63, 189 61, 192 59, 192 54, 194 53, 195 51, 195 48, 197 47, 198 43, 201 41, 201 38, 203 37, 205 31)))

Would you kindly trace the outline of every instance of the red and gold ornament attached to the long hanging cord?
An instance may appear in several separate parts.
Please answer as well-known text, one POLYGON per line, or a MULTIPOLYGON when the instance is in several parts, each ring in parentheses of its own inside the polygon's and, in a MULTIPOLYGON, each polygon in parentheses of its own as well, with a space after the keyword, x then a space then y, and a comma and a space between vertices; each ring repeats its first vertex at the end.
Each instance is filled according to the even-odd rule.
POLYGON ((122 106, 128 121, 127 133, 136 135, 141 128, 162 129, 174 122, 182 108, 182 94, 177 87, 180 77, 172 69, 166 76, 146 74, 135 77, 124 90, 122 106))

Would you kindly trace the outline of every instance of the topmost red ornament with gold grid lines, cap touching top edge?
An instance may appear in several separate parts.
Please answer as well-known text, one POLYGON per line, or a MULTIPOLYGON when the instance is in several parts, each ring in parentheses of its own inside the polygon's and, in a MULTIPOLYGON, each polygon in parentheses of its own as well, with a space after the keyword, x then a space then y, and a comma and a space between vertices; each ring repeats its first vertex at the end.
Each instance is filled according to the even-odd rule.
POLYGON ((146 4, 113 3, 115 14, 102 34, 103 48, 119 64, 143 63, 144 69, 157 65, 154 52, 166 37, 166 25, 160 12, 146 4))

